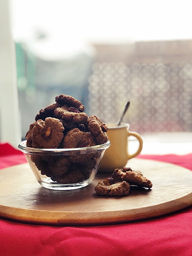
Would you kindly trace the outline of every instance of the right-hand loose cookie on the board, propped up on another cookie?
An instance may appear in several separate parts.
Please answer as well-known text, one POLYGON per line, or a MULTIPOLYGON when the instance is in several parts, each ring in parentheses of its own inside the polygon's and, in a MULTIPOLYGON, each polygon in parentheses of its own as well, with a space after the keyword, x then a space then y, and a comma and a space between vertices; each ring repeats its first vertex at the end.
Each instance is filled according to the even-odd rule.
POLYGON ((115 172, 112 175, 112 178, 114 178, 116 181, 127 181, 130 185, 135 185, 139 187, 144 188, 152 188, 153 184, 150 180, 147 178, 139 175, 135 172, 122 172, 119 169, 115 169, 115 172))

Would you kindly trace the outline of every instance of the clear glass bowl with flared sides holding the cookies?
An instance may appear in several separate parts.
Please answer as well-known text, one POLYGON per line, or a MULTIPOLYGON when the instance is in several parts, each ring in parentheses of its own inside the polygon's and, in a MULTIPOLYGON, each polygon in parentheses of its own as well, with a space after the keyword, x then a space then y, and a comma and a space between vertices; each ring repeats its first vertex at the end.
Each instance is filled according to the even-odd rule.
POLYGON ((109 140, 87 148, 28 148, 22 141, 19 149, 25 154, 36 180, 44 188, 69 190, 89 185, 95 177, 109 140))

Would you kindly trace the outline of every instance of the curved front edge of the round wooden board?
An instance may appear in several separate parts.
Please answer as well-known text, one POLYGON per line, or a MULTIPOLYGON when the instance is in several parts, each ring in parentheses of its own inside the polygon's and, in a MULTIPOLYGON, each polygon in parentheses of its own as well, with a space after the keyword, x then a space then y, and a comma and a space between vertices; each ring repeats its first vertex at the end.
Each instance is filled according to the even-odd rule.
POLYGON ((108 212, 54 212, 44 210, 28 210, 0 205, 0 216, 30 224, 53 226, 92 226, 145 220, 167 215, 192 205, 192 192, 174 201, 149 207, 124 211, 108 212), (158 209, 156 209, 158 206, 158 209), (22 214, 21 214, 22 210, 22 214))

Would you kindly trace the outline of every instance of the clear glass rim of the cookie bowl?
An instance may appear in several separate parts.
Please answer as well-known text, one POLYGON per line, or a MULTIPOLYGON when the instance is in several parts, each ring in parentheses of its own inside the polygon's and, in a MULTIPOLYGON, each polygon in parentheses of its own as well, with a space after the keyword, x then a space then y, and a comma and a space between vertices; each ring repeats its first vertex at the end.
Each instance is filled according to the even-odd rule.
POLYGON ((110 146, 110 141, 101 145, 86 148, 29 148, 26 147, 27 140, 22 141, 18 148, 25 154, 31 155, 76 155, 103 151, 110 146))

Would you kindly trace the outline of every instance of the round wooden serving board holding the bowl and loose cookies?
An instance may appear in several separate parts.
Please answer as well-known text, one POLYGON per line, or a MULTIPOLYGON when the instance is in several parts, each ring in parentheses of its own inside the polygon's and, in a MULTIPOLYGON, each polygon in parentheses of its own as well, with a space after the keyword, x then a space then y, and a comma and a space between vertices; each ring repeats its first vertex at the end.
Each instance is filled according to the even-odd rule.
POLYGON ((128 165, 152 181, 152 189, 131 187, 128 196, 97 196, 90 185, 61 191, 41 187, 28 164, 0 170, 0 216, 50 225, 122 223, 174 212, 192 204, 192 172, 174 164, 133 158, 128 165))

